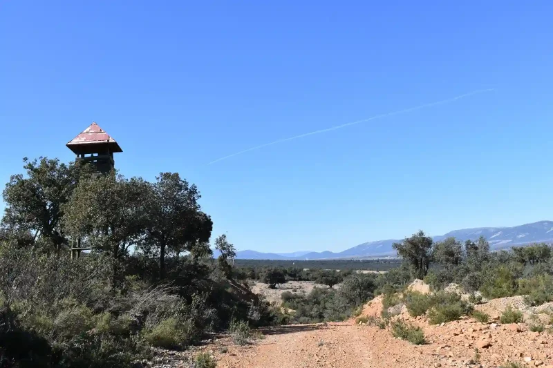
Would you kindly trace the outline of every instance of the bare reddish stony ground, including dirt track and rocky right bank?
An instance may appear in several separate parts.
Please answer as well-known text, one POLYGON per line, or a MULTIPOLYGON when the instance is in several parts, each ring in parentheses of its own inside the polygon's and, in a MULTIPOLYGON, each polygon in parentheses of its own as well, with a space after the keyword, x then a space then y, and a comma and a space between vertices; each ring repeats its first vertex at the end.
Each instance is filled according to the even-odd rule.
MULTIPOLYGON (((424 291, 425 286, 413 285, 424 291), (422 288, 422 289, 421 289, 422 288)), ((522 367, 553 368, 553 333, 532 332, 527 324, 501 324, 499 316, 508 305, 525 314, 543 312, 549 318, 553 306, 529 309, 521 297, 501 298, 480 304, 490 314, 482 323, 473 318, 432 326, 426 318, 412 318, 404 310, 399 318, 424 329, 426 345, 412 345, 392 336, 388 329, 357 325, 355 320, 319 325, 290 325, 262 330, 263 338, 238 347, 227 337, 214 339, 198 349, 209 351, 219 368, 384 368, 384 367, 500 367, 516 362, 522 367)), ((363 314, 379 316, 382 300, 366 304, 363 314)), ((549 319, 547 319, 549 323, 549 319)), ((191 367, 188 352, 158 367, 191 367), (179 361, 180 359, 180 361, 179 361)), ((510 368, 510 367, 509 367, 510 368)))

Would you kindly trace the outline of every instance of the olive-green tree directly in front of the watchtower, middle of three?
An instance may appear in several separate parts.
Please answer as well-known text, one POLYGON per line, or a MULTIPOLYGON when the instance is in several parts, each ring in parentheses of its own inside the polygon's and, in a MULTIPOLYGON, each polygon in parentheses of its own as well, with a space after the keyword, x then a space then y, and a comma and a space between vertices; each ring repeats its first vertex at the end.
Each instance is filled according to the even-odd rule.
MULTIPOLYGON (((84 244, 118 261, 144 241, 149 185, 140 178, 100 175, 80 180, 67 204, 64 228, 84 244)), ((118 262, 113 262, 113 282, 118 262)))

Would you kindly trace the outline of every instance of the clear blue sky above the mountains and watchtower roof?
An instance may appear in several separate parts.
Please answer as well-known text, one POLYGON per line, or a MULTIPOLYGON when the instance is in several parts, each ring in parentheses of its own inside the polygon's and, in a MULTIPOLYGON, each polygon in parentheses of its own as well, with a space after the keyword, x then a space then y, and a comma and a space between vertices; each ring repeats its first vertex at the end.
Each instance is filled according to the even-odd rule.
POLYGON ((0 182, 73 159, 200 188, 238 249, 553 220, 552 1, 3 1, 0 182), (415 110, 220 157, 448 99, 415 110))

